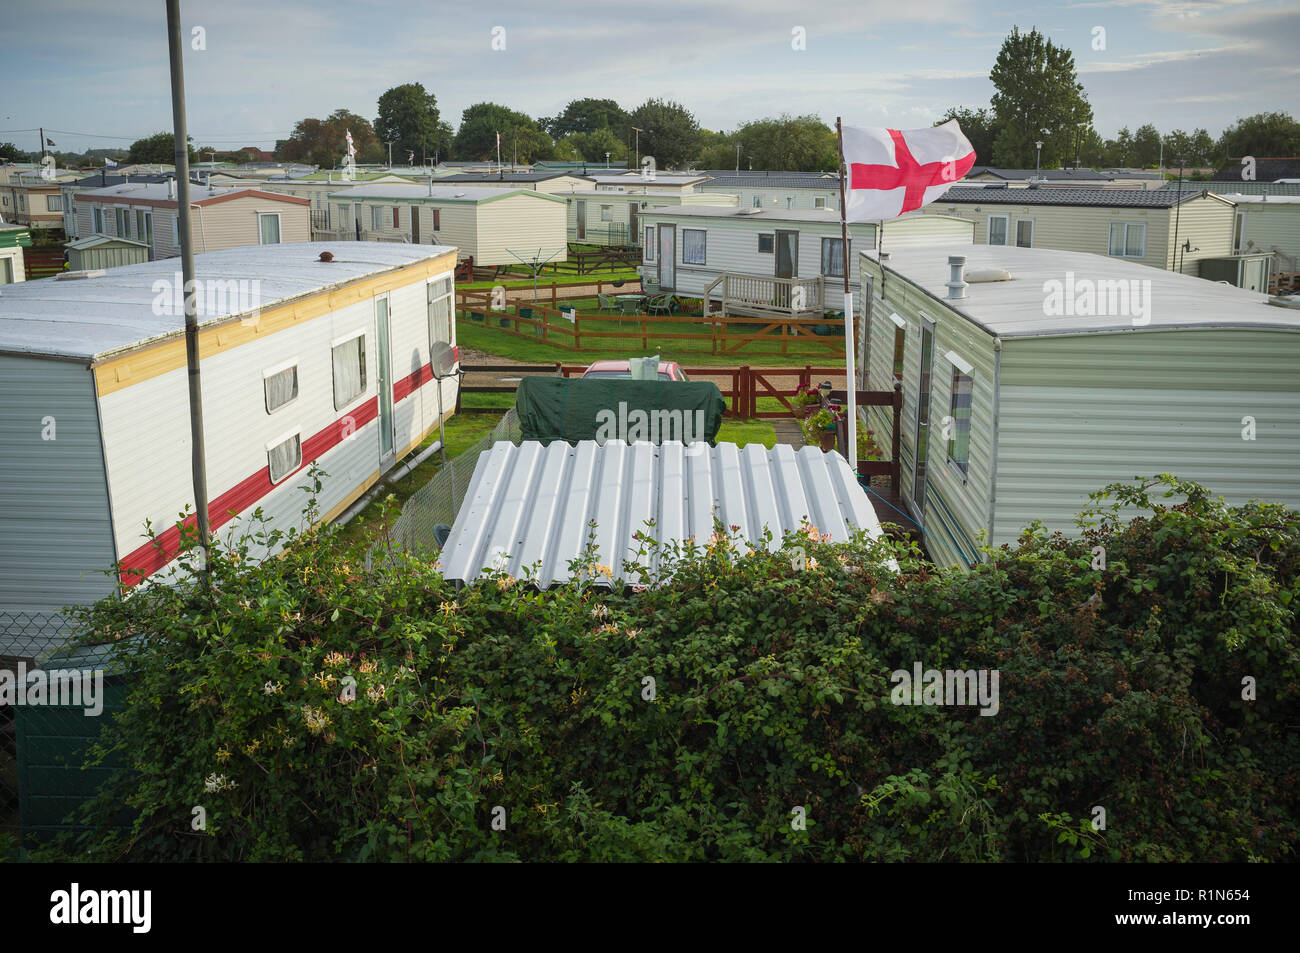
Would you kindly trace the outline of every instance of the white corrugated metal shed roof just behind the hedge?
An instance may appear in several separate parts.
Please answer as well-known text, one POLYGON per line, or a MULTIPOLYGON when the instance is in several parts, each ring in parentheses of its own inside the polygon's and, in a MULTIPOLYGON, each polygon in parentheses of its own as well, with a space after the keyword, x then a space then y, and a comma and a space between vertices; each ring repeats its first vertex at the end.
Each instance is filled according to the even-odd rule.
POLYGON ((478 458, 442 550, 442 573, 468 582, 497 567, 542 586, 566 582, 569 562, 594 537, 595 562, 614 580, 636 582, 624 563, 655 572, 659 559, 658 547, 642 546, 634 533, 660 546, 707 543, 715 514, 724 527, 738 527, 733 538, 755 546, 770 528, 774 550, 805 523, 836 542, 854 529, 881 536, 848 460, 816 447, 500 442, 478 458), (646 555, 638 558, 641 549, 646 555))

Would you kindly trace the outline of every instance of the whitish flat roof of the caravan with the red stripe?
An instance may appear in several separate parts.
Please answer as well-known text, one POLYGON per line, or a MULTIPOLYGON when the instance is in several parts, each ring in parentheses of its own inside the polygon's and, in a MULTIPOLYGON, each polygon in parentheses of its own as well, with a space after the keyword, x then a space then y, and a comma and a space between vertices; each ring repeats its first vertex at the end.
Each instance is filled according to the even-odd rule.
MULTIPOLYGON (((244 287, 250 295, 256 289, 255 309, 265 311, 455 251, 450 246, 398 242, 250 244, 195 255, 194 274, 200 282, 237 282, 234 287, 240 281, 256 281, 256 286, 244 287), (332 252, 334 260, 320 261, 322 251, 332 252)), ((40 278, 4 285, 0 354, 90 363, 178 335, 185 330, 185 315, 176 313, 174 306, 157 303, 174 303, 172 289, 181 283, 179 274, 181 259, 174 257, 108 268, 94 278, 40 278), (165 291, 155 290, 160 280, 166 282, 165 291)), ((237 294, 214 295, 212 311, 207 311, 205 294, 198 300, 200 328, 250 311, 240 306, 237 294)))

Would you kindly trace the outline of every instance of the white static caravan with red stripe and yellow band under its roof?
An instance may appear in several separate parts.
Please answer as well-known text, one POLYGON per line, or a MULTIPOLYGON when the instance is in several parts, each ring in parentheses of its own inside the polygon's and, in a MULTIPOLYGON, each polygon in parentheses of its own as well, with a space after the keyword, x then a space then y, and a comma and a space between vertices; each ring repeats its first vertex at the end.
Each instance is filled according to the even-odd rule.
MULTIPOLYGON (((216 534, 259 507, 300 527, 312 463, 334 519, 450 416, 456 380, 430 360, 455 346, 455 263, 454 247, 378 242, 195 256, 216 534)), ((0 655, 56 645, 32 629, 110 593, 114 562, 172 562, 194 507, 181 283, 172 260, 0 293, 0 655)))

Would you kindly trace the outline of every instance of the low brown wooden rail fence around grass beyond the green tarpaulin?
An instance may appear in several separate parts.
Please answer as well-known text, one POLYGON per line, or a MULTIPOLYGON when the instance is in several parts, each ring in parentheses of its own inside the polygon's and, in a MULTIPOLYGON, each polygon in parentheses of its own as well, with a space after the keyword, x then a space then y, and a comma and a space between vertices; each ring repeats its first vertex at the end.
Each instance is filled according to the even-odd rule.
MULTIPOLYGON (((508 293, 507 293, 508 294, 508 293)), ((590 296, 590 294, 584 295, 590 296)), ((751 343, 779 343, 780 352, 788 354, 790 343, 801 350, 816 346, 827 356, 844 355, 844 319, 836 317, 720 317, 673 315, 618 315, 581 313, 560 307, 555 287, 551 304, 519 302, 493 308, 491 291, 463 291, 458 307, 464 317, 491 328, 500 334, 545 341, 566 351, 603 347, 640 347, 646 350, 650 338, 656 342, 672 341, 673 350, 696 354, 737 354, 751 343), (618 328, 610 328, 616 322, 618 328), (676 329, 681 329, 680 332, 676 329), (694 332, 688 332, 692 328, 694 332), (688 345, 696 345, 690 347, 688 345)))

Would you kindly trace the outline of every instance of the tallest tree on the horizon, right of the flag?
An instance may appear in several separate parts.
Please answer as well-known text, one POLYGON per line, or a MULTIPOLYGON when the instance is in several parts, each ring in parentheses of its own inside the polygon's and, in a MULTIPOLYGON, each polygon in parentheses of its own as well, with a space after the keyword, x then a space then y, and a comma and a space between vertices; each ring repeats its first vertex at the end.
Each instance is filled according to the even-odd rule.
POLYGON ((1005 168, 1035 164, 1035 142, 1043 143, 1041 166, 1053 169, 1074 157, 1079 124, 1092 122, 1092 107, 1074 68, 1074 55, 1037 30, 1019 27, 1002 42, 989 79, 997 137, 993 160, 1005 168))

